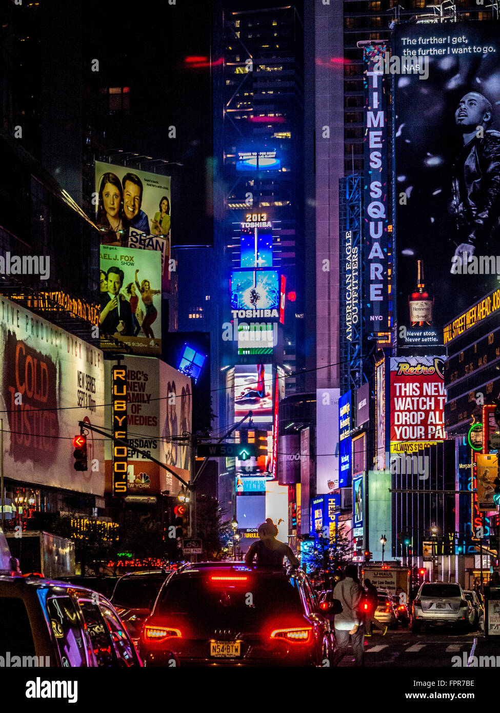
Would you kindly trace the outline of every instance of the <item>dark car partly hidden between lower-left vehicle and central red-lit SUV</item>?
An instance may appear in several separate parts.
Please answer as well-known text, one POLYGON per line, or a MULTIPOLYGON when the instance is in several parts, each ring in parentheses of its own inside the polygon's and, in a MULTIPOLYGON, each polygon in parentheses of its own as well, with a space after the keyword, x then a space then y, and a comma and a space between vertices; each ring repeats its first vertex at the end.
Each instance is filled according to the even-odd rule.
POLYGON ((111 603, 125 624, 134 645, 138 646, 141 627, 150 615, 168 570, 142 570, 130 572, 118 579, 111 603))

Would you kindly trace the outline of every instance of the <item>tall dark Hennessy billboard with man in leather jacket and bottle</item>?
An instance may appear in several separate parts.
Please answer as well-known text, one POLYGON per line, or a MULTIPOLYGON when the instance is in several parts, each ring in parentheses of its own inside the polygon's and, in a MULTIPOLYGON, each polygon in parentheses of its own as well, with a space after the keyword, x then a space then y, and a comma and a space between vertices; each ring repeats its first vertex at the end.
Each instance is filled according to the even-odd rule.
POLYGON ((493 21, 394 31, 395 55, 428 62, 394 77, 398 340, 414 354, 496 282, 481 273, 499 244, 499 52, 493 21))

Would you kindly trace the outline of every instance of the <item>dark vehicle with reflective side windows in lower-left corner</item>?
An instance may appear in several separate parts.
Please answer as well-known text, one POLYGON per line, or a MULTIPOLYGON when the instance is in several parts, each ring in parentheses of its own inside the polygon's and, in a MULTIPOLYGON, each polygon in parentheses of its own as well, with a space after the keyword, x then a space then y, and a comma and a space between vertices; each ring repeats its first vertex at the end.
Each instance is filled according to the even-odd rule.
POLYGON ((0 575, 0 652, 10 658, 1 665, 142 666, 106 597, 39 577, 0 575))

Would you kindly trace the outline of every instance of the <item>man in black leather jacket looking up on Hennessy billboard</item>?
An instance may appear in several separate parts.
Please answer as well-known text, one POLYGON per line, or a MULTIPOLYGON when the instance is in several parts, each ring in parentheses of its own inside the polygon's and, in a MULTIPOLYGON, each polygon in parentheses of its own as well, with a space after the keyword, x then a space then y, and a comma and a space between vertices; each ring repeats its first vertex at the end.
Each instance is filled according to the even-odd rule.
MULTIPOLYGON (((450 213, 454 217, 460 261, 476 255, 496 254, 494 236, 500 227, 500 132, 489 128, 493 108, 479 92, 466 93, 455 111, 464 147, 453 166, 450 213)), ((453 270, 451 270, 453 272, 453 270)))

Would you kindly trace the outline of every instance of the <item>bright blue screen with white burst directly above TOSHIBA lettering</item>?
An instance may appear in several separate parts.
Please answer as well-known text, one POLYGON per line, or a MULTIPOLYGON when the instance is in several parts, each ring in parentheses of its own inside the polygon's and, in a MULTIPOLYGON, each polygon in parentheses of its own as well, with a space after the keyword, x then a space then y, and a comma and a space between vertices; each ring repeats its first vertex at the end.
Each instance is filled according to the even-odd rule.
POLYGON ((278 309, 277 270, 234 270, 231 273, 231 309, 278 309))

